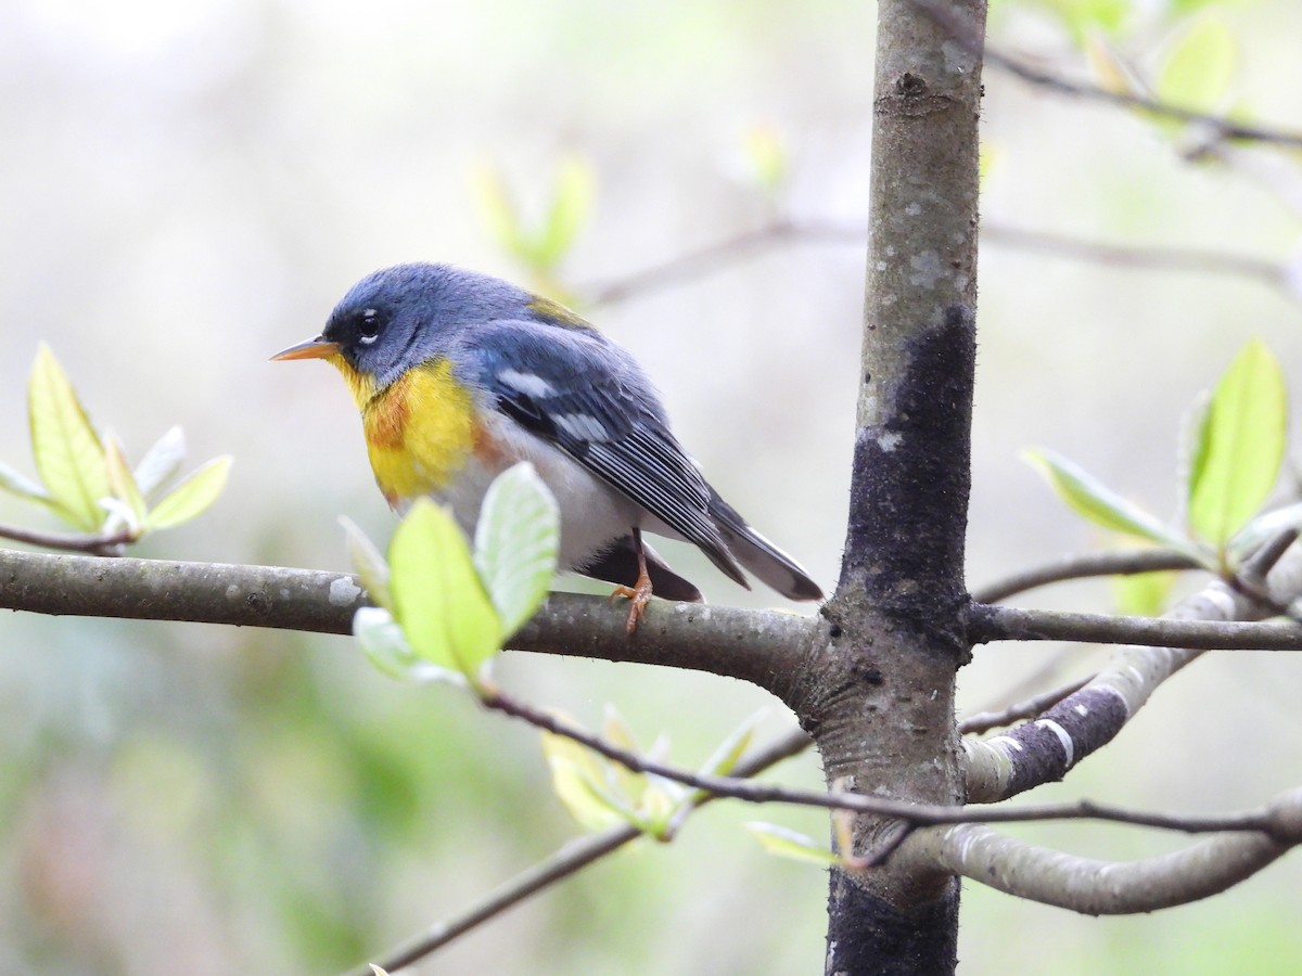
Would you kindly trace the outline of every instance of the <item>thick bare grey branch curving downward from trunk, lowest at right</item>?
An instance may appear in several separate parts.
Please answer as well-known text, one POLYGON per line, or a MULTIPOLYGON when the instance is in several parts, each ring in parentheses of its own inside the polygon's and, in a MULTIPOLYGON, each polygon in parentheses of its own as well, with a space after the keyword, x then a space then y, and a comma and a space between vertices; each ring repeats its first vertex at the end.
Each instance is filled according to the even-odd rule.
POLYGON ((909 856, 1018 898, 1086 915, 1130 915, 1219 894, 1302 842, 1302 790, 1285 794, 1267 811, 1243 816, 1264 817, 1281 829, 1273 837, 1217 834, 1174 854, 1116 863, 1026 845, 966 824, 918 832, 909 841, 909 856))

